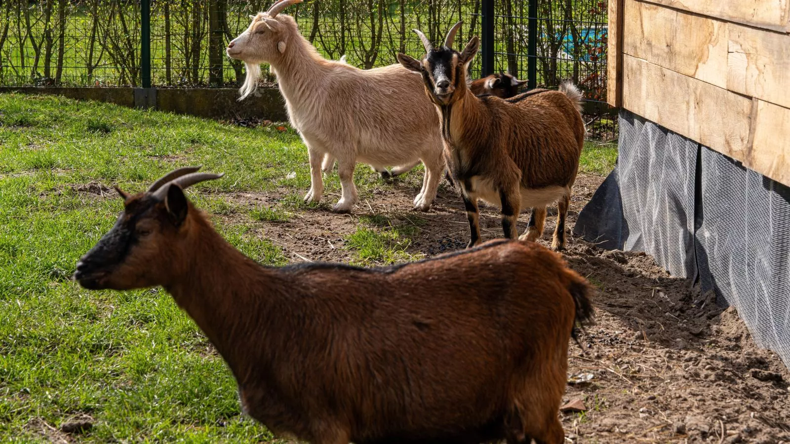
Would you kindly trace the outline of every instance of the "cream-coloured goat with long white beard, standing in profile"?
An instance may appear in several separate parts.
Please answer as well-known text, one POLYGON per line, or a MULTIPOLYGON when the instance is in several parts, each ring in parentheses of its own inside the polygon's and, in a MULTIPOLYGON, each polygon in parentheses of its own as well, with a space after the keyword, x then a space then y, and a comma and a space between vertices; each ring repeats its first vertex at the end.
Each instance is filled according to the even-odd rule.
POLYGON ((442 136, 423 86, 400 65, 359 70, 345 62, 327 60, 300 33, 296 22, 280 12, 302 0, 281 0, 228 44, 231 58, 246 65, 242 99, 254 92, 268 62, 276 74, 288 108, 288 119, 299 131, 310 156, 310 191, 305 201, 321 200, 322 171, 337 159, 342 196, 334 211, 347 213, 358 200, 354 186, 357 162, 376 171, 408 171, 425 165, 423 187, 415 209, 427 210, 442 177, 442 136), (419 92, 419 94, 418 94, 419 92), (404 113, 404 108, 412 113, 404 113), (398 167, 402 166, 402 167, 398 167))

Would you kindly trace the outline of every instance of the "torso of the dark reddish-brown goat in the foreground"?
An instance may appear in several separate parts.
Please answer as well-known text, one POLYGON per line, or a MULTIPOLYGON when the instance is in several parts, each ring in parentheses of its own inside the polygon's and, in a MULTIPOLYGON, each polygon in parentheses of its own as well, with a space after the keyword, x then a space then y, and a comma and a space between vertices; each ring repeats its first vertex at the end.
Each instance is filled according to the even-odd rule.
POLYGON ((288 315, 261 320, 261 334, 270 350, 289 351, 263 360, 289 371, 267 382, 276 390, 243 393, 261 400, 246 404, 260 404, 250 414, 267 425, 278 415, 273 393, 302 406, 305 422, 347 423, 363 444, 482 442, 502 438, 514 403, 559 408, 576 280, 536 243, 495 241, 384 269, 283 273, 303 284, 280 296, 288 315))

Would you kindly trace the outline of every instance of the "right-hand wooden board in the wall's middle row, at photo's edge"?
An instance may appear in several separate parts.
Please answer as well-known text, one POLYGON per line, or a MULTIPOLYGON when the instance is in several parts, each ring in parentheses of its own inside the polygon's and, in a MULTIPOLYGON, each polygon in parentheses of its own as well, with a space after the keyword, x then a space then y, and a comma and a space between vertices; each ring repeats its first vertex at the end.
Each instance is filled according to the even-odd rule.
POLYGON ((728 39, 726 87, 790 107, 790 35, 729 24, 728 39))

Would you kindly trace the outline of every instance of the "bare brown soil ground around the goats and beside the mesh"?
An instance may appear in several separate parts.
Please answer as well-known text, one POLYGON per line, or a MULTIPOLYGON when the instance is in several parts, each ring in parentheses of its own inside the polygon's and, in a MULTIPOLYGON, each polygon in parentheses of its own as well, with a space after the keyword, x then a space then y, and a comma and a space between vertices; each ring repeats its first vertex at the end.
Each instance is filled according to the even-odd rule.
MULTIPOLYGON (((570 231, 602 181, 577 179, 570 231)), ((352 215, 330 213, 339 198, 330 194, 321 208, 293 211, 287 222, 261 222, 256 234, 295 261, 349 262, 354 254, 344 249, 344 237, 360 216, 379 215, 386 224, 419 227, 409 253, 463 248, 468 225, 461 199, 446 187, 430 212, 414 213, 418 191, 396 180, 363 196, 352 215)), ((275 205, 288 193, 244 193, 235 200, 275 205)), ((549 215, 546 246, 554 230, 549 215)), ((522 215, 519 231, 525 226, 522 215)), ((481 228, 486 240, 502 236, 496 210, 483 209, 481 228)), ((641 252, 602 250, 570 235, 565 257, 598 288, 596 325, 581 336, 585 349, 570 348, 564 401, 581 401, 585 411, 561 413, 568 442, 790 443, 790 372, 754 344, 733 308, 717 306, 713 294, 671 277, 641 252)))

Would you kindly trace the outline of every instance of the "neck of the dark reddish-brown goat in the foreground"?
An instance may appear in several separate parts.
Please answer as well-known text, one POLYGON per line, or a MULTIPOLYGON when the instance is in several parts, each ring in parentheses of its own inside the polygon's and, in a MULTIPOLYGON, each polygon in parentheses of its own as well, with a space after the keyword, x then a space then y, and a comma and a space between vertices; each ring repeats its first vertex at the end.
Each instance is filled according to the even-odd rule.
POLYGON ((190 230, 194 250, 183 272, 165 288, 176 303, 194 319, 228 362, 237 380, 252 370, 254 352, 243 349, 250 333, 266 325, 259 318, 268 313, 274 270, 247 258, 217 233, 202 216, 190 230), (245 367, 247 366, 247 367, 245 367))

